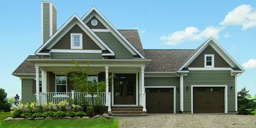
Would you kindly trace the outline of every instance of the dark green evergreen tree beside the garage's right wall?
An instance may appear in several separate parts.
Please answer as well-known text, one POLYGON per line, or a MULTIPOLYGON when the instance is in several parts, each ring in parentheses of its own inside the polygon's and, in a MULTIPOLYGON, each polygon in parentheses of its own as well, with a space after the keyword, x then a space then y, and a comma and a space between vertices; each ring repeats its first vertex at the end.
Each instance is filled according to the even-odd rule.
POLYGON ((246 91, 245 87, 242 88, 241 91, 238 91, 238 114, 252 114, 251 112, 255 109, 253 108, 255 99, 249 99, 249 97, 249 91, 246 91))

